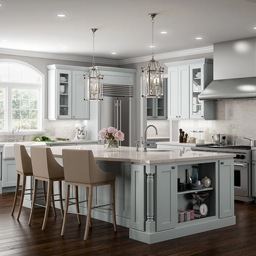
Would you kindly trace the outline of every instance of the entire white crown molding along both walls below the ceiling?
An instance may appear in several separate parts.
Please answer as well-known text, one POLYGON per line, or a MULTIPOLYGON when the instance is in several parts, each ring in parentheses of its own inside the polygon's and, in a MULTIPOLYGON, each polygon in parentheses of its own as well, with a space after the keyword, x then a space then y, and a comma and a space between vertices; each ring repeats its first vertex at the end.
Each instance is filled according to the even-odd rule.
MULTIPOLYGON (((210 53, 213 52, 213 46, 195 48, 190 50, 176 51, 176 52, 168 52, 155 55, 154 57, 158 60, 165 60, 166 58, 176 58, 176 57, 184 57, 189 55, 198 55, 202 53, 210 53)), ((32 52, 32 51, 20 51, 20 50, 11 50, 0 48, 0 54, 4 55, 16 55, 16 56, 24 56, 24 57, 35 57, 35 58, 50 58, 53 60, 63 60, 63 61, 79 61, 79 62, 92 62, 91 57, 83 57, 83 56, 75 56, 75 55, 63 55, 57 53, 45 53, 45 52, 32 52)), ((140 63, 148 61, 151 58, 150 56, 137 57, 137 58, 127 58, 125 60, 109 60, 105 58, 95 58, 95 62, 100 65, 126 65, 132 63, 140 63)))

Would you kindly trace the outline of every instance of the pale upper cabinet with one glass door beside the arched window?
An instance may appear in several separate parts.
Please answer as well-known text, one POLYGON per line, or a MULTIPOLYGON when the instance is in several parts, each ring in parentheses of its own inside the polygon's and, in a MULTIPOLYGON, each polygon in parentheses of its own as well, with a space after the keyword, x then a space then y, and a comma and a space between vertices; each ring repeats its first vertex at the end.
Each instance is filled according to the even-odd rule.
POLYGON ((84 100, 87 67, 49 65, 48 119, 89 119, 89 102, 84 100))

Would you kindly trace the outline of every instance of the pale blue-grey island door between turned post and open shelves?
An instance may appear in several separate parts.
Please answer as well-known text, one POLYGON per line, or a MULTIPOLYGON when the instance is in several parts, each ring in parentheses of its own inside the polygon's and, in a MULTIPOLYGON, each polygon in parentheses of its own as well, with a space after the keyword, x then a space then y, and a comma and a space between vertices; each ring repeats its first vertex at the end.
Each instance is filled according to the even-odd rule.
POLYGON ((177 166, 156 166, 156 231, 177 225, 177 166))

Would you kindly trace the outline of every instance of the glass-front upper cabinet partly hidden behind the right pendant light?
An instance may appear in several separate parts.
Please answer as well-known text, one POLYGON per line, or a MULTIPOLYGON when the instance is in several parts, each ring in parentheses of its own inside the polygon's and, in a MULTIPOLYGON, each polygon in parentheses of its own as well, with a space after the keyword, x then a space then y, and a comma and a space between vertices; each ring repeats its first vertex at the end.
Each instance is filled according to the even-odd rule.
POLYGON ((147 119, 167 119, 167 78, 164 78, 164 97, 147 99, 147 119))

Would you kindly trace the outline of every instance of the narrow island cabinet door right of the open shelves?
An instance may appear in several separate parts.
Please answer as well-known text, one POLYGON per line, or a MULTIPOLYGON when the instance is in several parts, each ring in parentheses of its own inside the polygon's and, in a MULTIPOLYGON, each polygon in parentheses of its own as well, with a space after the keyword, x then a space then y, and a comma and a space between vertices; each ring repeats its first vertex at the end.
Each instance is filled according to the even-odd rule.
POLYGON ((234 215, 234 160, 219 160, 219 218, 234 215))

